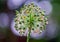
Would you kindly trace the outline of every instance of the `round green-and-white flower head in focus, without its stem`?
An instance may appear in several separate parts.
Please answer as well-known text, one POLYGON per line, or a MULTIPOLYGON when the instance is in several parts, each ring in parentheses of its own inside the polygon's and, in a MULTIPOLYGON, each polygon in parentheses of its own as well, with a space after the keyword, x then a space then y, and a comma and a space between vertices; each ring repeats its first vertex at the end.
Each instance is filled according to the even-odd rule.
POLYGON ((38 5, 33 2, 28 5, 24 5, 20 12, 16 11, 15 29, 19 32, 20 36, 28 36, 30 34, 42 33, 46 29, 48 24, 47 16, 44 15, 45 11, 41 10, 38 5))

